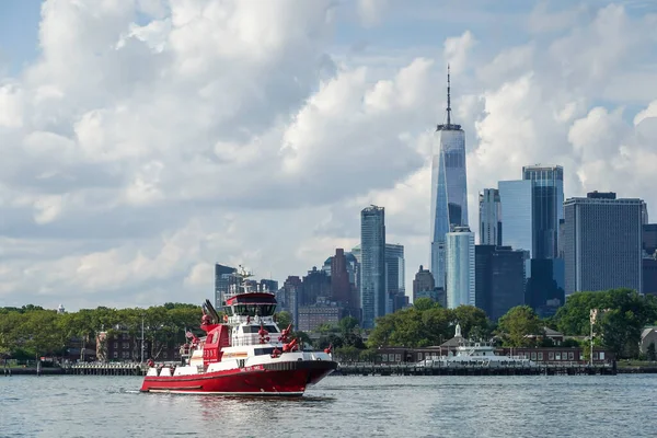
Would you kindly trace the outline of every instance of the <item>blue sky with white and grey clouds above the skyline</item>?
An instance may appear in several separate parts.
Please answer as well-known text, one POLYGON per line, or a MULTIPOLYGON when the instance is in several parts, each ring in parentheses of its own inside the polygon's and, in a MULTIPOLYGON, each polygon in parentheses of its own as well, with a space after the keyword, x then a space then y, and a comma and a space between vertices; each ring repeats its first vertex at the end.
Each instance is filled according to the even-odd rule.
POLYGON ((473 229, 534 163, 657 218, 657 2, 499 3, 0 2, 0 307, 198 303, 215 263, 283 283, 370 204, 410 293, 448 64, 473 229))

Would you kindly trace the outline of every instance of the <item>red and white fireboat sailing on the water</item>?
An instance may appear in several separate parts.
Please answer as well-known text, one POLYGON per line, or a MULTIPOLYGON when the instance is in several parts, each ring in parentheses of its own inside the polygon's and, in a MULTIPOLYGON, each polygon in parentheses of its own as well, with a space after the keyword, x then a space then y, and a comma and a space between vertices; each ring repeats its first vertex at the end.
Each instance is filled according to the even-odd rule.
POLYGON ((223 318, 205 301, 200 328, 206 335, 186 333, 181 365, 158 366, 149 359, 140 391, 301 396, 337 368, 331 347, 304 349, 291 338, 292 324, 279 330, 274 293, 251 290, 250 276, 243 268, 234 274, 223 318))

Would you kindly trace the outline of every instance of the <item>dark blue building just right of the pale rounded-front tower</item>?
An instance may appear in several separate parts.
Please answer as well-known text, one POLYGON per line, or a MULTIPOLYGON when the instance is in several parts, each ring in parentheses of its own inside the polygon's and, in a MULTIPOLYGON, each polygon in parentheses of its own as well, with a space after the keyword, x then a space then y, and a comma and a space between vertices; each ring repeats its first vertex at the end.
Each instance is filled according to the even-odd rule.
POLYGON ((497 321, 525 304, 525 256, 510 246, 476 245, 475 304, 497 321))

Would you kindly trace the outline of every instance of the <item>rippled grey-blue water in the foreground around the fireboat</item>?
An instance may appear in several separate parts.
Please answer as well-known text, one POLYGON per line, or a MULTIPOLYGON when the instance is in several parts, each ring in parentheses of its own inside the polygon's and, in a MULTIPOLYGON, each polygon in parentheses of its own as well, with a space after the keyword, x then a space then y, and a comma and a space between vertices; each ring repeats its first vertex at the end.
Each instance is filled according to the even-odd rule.
POLYGON ((654 437, 657 377, 328 377, 301 399, 0 377, 1 437, 654 437))

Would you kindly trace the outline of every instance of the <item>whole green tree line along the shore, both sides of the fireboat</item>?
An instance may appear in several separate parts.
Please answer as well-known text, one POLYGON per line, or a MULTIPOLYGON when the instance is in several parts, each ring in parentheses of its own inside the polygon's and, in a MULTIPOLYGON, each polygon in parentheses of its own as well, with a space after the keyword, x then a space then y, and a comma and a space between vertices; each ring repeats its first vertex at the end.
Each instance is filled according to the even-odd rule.
MULTIPOLYGON (((592 324, 595 344, 611 349, 616 357, 638 357, 643 327, 657 321, 657 299, 630 289, 573 293, 554 316, 546 319, 539 318, 531 308, 520 306, 510 309, 497 322, 492 322, 483 310, 472 306, 445 309, 428 298, 420 298, 411 308, 379 318, 367 342, 358 320, 351 316, 337 324, 321 325, 314 341, 302 332, 293 332, 293 335, 319 349, 331 346, 336 355, 347 360, 370 360, 377 349, 384 346, 440 345, 454 336, 457 323, 465 338, 494 339, 498 345, 509 347, 550 346, 551 342, 544 336, 545 327, 565 336, 588 336, 591 309, 598 310, 592 324)), ((143 322, 145 341, 150 346, 147 355, 157 357, 169 343, 182 344, 185 330, 197 332, 201 314, 200 307, 183 303, 148 309, 99 307, 64 314, 31 304, 0 308, 0 356, 61 355, 71 339, 77 339, 77 345, 83 349, 85 345, 95 344, 100 331, 110 336, 120 332, 140 338, 143 322)), ((291 323, 288 312, 279 312, 276 316, 281 327, 291 323)), ((578 343, 567 341, 566 345, 578 343)), ((654 350, 653 347, 653 356, 654 350)))

